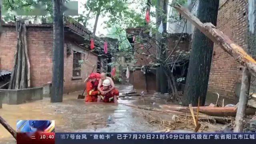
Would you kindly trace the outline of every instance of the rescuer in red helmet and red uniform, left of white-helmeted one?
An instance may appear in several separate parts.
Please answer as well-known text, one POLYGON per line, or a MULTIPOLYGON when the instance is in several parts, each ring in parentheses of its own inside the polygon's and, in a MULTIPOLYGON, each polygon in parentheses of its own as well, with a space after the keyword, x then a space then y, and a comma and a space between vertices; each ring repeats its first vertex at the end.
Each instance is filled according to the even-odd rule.
POLYGON ((85 97, 85 102, 97 102, 98 95, 100 92, 98 91, 98 80, 95 73, 90 74, 88 81, 86 83, 86 92, 87 95, 85 97))

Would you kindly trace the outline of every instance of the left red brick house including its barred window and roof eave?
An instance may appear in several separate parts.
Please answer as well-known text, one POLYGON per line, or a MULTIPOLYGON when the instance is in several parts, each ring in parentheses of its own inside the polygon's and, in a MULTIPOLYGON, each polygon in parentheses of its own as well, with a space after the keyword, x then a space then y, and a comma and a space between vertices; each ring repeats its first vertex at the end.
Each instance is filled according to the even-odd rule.
MULTIPOLYGON (((28 56, 31 65, 31 86, 44 86, 52 81, 53 27, 51 24, 29 24, 26 27, 28 56)), ((91 34, 84 26, 78 23, 65 23, 64 92, 82 90, 86 76, 92 70, 96 72, 97 68, 103 70, 104 65, 107 64, 107 61, 103 60, 106 59, 105 57, 98 56, 100 51, 90 52, 90 38, 94 38, 95 47, 103 49, 104 41, 91 34), (78 60, 84 60, 84 63, 79 65, 78 60)), ((11 71, 17 44, 14 24, 3 25, 0 43, 0 68, 11 71)), ((112 44, 109 43, 108 46, 112 46, 112 44)))

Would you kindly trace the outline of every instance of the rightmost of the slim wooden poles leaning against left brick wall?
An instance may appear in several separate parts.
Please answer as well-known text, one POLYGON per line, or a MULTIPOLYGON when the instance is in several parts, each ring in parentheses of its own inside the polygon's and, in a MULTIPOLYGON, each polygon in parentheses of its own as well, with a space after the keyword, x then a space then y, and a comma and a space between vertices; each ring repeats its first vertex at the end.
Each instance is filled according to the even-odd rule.
POLYGON ((28 88, 30 88, 30 61, 28 58, 28 42, 27 42, 26 25, 24 25, 23 28, 24 28, 24 47, 25 47, 25 55, 26 55, 26 69, 27 69, 27 86, 28 88))

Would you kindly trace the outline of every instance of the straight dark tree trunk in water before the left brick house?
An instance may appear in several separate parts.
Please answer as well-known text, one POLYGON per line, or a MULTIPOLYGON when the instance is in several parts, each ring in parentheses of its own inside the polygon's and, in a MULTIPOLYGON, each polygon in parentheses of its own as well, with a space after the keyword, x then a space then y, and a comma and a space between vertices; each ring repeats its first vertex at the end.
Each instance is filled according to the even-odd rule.
POLYGON ((53 70, 51 102, 62 102, 64 78, 64 24, 62 0, 53 3, 53 70))

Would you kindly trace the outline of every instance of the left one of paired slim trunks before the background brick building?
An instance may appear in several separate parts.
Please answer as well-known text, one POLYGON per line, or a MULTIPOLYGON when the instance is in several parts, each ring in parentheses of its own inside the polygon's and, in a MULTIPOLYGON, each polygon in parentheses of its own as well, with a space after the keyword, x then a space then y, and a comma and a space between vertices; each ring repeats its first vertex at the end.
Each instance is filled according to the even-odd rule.
MULTIPOLYGON (((162 0, 156 1, 156 29, 159 28, 161 24, 161 10, 162 10, 162 0)), ((161 57, 161 38, 162 34, 156 31, 156 48, 157 48, 157 56, 156 58, 160 59, 161 57)), ((156 91, 161 92, 161 66, 156 68, 156 91)))

